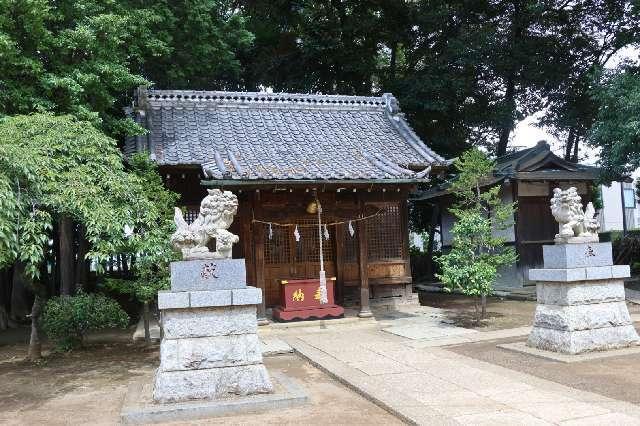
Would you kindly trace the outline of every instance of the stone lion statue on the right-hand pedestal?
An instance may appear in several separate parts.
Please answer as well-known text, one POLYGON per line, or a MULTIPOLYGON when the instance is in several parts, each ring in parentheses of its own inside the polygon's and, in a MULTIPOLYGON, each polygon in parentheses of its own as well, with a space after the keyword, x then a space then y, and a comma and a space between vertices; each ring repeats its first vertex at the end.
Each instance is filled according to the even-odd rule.
POLYGON ((566 190, 555 188, 551 198, 551 214, 559 225, 555 242, 566 243, 591 243, 598 242, 598 228, 600 224, 595 216, 593 204, 587 204, 582 210, 582 199, 578 190, 571 187, 566 190))

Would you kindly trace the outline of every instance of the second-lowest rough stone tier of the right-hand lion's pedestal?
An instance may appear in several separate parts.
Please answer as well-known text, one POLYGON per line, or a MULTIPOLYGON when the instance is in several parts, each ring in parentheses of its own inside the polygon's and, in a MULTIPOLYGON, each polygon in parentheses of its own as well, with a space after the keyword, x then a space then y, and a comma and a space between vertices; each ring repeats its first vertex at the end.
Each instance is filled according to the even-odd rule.
POLYGON ((541 305, 536 307, 534 327, 561 331, 576 331, 618 327, 631 324, 625 302, 590 305, 541 305))

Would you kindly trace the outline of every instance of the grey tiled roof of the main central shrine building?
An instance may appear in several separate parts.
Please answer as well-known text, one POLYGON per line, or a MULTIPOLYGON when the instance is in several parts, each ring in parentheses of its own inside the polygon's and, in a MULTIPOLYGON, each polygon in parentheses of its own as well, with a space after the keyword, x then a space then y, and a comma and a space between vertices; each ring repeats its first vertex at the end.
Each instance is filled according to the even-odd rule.
POLYGON ((209 179, 428 178, 446 165, 381 97, 141 90, 136 121, 160 165, 200 165, 209 179))

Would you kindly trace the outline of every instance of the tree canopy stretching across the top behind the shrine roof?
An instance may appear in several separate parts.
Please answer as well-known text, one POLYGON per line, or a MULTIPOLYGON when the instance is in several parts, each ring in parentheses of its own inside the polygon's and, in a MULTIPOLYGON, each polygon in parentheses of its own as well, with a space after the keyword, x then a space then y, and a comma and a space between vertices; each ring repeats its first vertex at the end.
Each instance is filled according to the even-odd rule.
POLYGON ((639 33, 632 0, 0 0, 0 114, 71 113, 121 137, 140 131, 121 112, 138 85, 393 92, 447 157, 501 155, 544 110, 573 158, 594 73, 639 33))

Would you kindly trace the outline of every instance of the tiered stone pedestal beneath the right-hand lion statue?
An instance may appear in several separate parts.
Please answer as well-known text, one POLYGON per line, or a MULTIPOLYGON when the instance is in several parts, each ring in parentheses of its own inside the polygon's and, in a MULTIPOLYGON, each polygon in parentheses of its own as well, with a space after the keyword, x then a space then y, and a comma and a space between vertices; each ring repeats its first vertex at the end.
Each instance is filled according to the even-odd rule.
POLYGON ((611 243, 543 246, 533 329, 527 345, 579 354, 635 345, 638 334, 625 304, 629 266, 613 265, 611 243))

